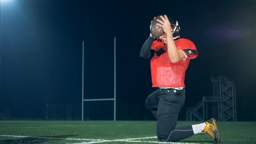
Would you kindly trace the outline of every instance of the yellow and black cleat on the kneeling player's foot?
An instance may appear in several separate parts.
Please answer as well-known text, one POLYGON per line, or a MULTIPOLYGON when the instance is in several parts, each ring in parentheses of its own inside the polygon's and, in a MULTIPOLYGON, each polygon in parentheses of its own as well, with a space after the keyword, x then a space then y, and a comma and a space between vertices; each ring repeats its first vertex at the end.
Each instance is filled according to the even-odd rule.
POLYGON ((217 128, 216 119, 211 118, 210 120, 206 121, 206 126, 203 129, 203 134, 210 134, 211 137, 214 139, 214 144, 220 143, 220 133, 217 128))

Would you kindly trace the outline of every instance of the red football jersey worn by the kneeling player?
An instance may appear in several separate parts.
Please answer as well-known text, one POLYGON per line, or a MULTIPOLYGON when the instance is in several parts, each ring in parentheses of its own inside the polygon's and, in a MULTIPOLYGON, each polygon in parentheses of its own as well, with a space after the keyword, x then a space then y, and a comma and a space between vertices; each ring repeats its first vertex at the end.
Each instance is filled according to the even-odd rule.
POLYGON ((152 87, 185 87, 185 72, 190 59, 194 59, 198 56, 197 48, 194 43, 188 39, 178 39, 174 42, 177 49, 181 49, 186 53, 187 59, 177 63, 171 63, 167 52, 167 44, 154 41, 151 46, 151 49, 156 51, 151 59, 152 87), (159 49, 164 49, 165 51, 160 56, 157 55, 159 49))

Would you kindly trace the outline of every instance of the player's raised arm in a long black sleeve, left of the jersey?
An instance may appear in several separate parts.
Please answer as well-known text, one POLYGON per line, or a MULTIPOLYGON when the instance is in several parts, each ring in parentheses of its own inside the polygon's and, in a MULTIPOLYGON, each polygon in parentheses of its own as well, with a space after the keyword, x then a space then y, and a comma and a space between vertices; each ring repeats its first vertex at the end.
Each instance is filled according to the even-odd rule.
POLYGON ((140 57, 144 59, 151 59, 152 53, 154 53, 154 50, 151 49, 151 46, 154 42, 154 38, 151 36, 148 36, 148 39, 145 41, 143 46, 141 47, 140 57))

